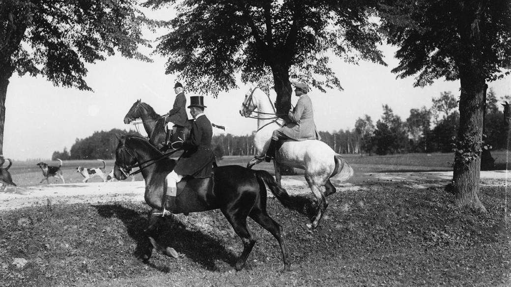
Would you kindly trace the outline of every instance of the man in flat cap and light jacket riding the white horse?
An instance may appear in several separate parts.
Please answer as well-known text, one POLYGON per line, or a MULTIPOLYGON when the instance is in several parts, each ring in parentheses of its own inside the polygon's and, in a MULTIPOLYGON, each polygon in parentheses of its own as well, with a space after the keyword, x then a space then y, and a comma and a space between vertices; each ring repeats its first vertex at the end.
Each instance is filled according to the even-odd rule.
POLYGON ((291 122, 273 131, 270 145, 265 156, 267 162, 275 159, 275 148, 280 139, 321 139, 316 130, 316 124, 314 123, 311 98, 309 98, 307 94, 309 92, 309 86, 299 82, 294 85, 294 88, 295 95, 299 98, 294 109, 289 110, 288 117, 291 122))

